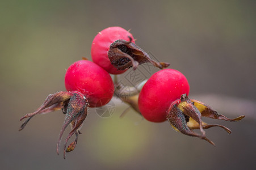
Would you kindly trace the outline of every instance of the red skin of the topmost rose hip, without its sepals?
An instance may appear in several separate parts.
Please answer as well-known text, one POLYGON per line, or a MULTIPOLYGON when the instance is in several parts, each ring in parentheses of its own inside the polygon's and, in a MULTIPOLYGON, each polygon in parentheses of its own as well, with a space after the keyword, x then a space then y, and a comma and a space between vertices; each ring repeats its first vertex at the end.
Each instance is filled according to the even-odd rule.
POLYGON ((91 45, 91 58, 93 59, 93 62, 110 74, 124 73, 126 70, 117 70, 116 67, 111 64, 107 53, 113 42, 116 40, 129 41, 128 36, 132 38, 132 42, 135 42, 132 34, 121 27, 108 27, 100 31, 91 45))

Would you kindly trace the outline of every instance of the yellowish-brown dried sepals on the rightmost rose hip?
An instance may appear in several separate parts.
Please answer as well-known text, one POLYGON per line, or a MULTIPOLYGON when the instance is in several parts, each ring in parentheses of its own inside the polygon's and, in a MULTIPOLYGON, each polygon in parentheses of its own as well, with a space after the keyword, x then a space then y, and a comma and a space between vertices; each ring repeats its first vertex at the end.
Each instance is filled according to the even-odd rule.
POLYGON ((245 117, 240 116, 234 119, 227 118, 222 114, 218 114, 211 107, 203 104, 200 101, 188 99, 187 95, 184 94, 181 96, 180 100, 174 101, 174 103, 171 104, 171 107, 168 110, 167 119, 175 130, 192 137, 202 138, 212 145, 215 144, 205 137, 205 132, 203 129, 218 126, 231 134, 231 130, 225 126, 206 124, 202 121, 202 116, 226 121, 238 121, 245 117), (200 129, 202 134, 195 133, 192 131, 192 129, 200 129))

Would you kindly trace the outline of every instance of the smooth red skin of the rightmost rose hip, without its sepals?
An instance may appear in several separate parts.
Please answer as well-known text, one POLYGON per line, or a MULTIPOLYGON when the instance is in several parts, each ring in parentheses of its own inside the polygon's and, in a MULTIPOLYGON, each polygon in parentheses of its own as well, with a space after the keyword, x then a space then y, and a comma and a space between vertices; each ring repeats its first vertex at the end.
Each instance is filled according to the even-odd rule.
POLYGON ((154 73, 145 83, 139 95, 139 109, 151 122, 166 121, 171 103, 187 94, 190 86, 186 77, 174 69, 163 69, 154 73))

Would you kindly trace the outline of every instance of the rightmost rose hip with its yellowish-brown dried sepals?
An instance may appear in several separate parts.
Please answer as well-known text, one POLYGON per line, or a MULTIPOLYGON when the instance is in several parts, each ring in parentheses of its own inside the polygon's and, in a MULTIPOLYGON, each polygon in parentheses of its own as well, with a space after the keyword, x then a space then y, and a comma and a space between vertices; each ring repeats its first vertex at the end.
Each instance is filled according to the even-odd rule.
POLYGON ((212 145, 215 144, 205 137, 203 129, 219 126, 228 133, 231 131, 222 125, 206 124, 202 121, 202 116, 225 121, 239 121, 245 117, 227 118, 198 100, 190 100, 189 90, 187 79, 182 73, 174 69, 160 70, 149 78, 140 92, 140 113, 152 122, 169 120, 175 130, 202 138, 212 145), (192 129, 200 129, 202 134, 195 133, 192 129))

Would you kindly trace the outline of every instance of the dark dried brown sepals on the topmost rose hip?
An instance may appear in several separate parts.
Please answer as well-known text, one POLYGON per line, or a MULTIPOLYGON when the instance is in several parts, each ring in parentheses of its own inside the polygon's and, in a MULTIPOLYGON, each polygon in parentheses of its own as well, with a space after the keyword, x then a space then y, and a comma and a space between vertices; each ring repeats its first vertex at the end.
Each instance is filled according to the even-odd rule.
POLYGON ((110 50, 108 50, 108 58, 117 70, 125 70, 130 67, 133 67, 135 70, 137 66, 145 62, 150 62, 160 69, 170 65, 166 62, 152 60, 144 50, 132 42, 131 37, 129 39, 129 41, 116 40, 110 45, 110 50))

